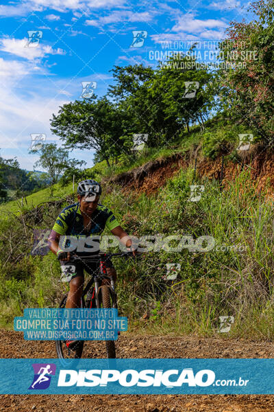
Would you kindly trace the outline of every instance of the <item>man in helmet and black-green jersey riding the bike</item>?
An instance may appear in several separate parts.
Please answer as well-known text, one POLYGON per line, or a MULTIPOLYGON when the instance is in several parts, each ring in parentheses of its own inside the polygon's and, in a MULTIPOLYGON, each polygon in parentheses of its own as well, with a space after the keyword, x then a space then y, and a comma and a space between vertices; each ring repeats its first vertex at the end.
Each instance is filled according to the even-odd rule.
MULTIPOLYGON (((49 248, 61 262, 62 273, 69 282, 69 295, 66 299, 66 308, 80 308, 81 296, 84 285, 84 269, 95 273, 97 267, 82 263, 70 264, 70 249, 77 244, 77 255, 97 254, 99 251, 99 236, 105 227, 119 238, 127 250, 136 252, 132 247, 132 239, 122 229, 114 214, 108 207, 99 204, 101 185, 94 180, 87 179, 77 187, 78 202, 64 207, 55 221, 49 235, 49 248), (60 242, 60 237, 62 240, 60 242), (78 249, 80 252, 78 252, 78 249), (90 249, 90 251, 88 251, 90 249), (84 250, 84 251, 83 251, 84 250)), ((109 276, 116 279, 116 271, 110 260, 106 262, 106 271, 109 276)), ((67 347, 73 347, 75 341, 66 341, 67 347)))

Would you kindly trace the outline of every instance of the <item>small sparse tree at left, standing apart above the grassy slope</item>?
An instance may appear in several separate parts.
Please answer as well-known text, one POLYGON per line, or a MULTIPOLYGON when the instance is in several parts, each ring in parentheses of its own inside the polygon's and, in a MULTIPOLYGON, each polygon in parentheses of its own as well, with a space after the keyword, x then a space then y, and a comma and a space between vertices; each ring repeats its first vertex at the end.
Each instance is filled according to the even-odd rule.
POLYGON ((39 150, 32 150, 32 153, 39 153, 40 159, 36 161, 35 167, 40 166, 47 170, 49 174, 51 196, 53 195, 53 185, 58 182, 62 172, 69 168, 81 166, 85 161, 69 159, 69 150, 58 148, 57 144, 43 144, 39 150))

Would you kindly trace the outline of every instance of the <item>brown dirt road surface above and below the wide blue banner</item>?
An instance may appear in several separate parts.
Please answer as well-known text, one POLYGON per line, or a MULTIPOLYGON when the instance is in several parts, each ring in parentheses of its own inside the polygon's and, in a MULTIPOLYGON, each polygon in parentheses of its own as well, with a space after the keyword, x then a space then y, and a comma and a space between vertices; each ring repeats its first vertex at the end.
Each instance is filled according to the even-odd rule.
MULTIPOLYGON (((119 337, 120 358, 274 358, 274 343, 194 336, 119 337)), ((87 342, 84 358, 103 358, 103 342, 87 342)), ((55 358, 54 342, 24 341, 0 330, 1 358, 55 358)), ((273 411, 274 395, 1 395, 0 411, 245 412, 273 411)))

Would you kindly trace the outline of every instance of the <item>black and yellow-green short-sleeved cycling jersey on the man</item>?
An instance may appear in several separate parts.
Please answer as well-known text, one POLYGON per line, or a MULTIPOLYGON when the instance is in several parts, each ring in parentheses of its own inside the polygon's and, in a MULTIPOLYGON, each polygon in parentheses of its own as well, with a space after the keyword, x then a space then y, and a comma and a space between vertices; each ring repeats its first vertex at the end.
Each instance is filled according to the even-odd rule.
POLYGON ((79 203, 65 207, 55 221, 53 230, 63 235, 60 247, 69 247, 71 238, 86 238, 87 236, 100 236, 105 227, 112 230, 119 226, 114 214, 108 207, 98 205, 90 216, 91 225, 88 230, 84 227, 84 218, 81 214, 79 203), (67 237, 68 236, 68 237, 67 237))

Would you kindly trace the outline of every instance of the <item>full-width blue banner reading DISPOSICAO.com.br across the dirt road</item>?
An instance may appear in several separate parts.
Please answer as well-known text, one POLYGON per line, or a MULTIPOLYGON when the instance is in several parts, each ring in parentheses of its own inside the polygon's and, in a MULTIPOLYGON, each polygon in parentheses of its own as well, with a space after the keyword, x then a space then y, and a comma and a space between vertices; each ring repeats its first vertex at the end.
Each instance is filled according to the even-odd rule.
POLYGON ((0 359, 7 394, 274 394, 274 359, 0 359))

